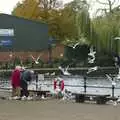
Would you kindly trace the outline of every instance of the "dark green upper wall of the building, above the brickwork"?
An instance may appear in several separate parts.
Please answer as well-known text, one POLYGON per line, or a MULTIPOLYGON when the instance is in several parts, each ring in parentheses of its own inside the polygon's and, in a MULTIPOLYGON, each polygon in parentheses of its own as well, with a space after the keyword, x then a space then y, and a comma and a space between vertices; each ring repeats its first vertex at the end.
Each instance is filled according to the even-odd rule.
POLYGON ((14 33, 12 36, 0 35, 0 41, 12 41, 13 51, 41 51, 48 48, 49 36, 46 23, 0 14, 0 32, 6 29, 14 33))

